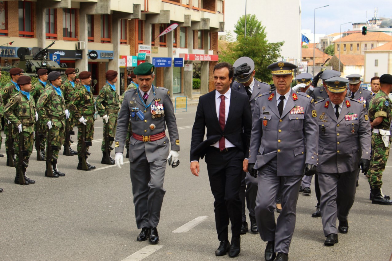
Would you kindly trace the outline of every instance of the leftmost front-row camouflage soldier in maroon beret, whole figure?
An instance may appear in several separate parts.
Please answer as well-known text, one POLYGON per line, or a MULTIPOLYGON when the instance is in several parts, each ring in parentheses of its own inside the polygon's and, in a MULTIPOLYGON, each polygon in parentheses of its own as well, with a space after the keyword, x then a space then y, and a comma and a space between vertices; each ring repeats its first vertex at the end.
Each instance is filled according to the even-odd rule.
MULTIPOLYGON (((31 78, 29 76, 20 76, 17 81, 20 92, 13 95, 8 103, 4 107, 4 115, 8 121, 11 122, 9 127, 14 127, 14 133, 21 133, 23 131, 24 144, 21 148, 19 143, 19 135, 15 135, 14 147, 16 153, 16 163, 19 162, 19 149, 27 151, 27 155, 24 156, 24 162, 29 164, 29 158, 33 151, 34 143, 34 123, 38 119, 38 114, 35 109, 35 103, 33 97, 30 96, 31 91, 31 78)), ((27 169, 26 166, 26 169, 27 169)), ((34 184, 35 181, 26 176, 24 171, 24 183, 20 183, 19 180, 19 166, 15 164, 16 176, 15 183, 21 185, 34 184)))

